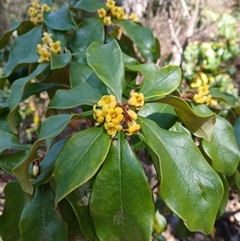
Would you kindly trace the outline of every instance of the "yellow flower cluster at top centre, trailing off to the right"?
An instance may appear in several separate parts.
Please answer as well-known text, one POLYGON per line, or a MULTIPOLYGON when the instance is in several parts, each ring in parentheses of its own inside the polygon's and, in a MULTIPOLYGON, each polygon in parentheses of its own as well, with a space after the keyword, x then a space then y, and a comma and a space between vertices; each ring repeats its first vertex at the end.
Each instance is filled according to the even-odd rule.
POLYGON ((106 8, 107 10, 105 8, 98 9, 98 16, 103 19, 104 25, 112 25, 112 17, 117 20, 131 19, 135 22, 138 21, 135 13, 131 13, 128 16, 123 7, 116 6, 116 2, 114 0, 107 0, 106 8))

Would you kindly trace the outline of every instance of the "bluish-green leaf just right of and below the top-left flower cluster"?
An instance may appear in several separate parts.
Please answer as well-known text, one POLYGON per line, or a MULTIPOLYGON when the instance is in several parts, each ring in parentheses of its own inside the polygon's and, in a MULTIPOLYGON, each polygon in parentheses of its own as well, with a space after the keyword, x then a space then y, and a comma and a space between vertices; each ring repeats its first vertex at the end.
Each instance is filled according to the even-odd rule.
POLYGON ((43 20, 49 28, 54 30, 66 31, 77 28, 67 2, 55 12, 43 12, 43 20))

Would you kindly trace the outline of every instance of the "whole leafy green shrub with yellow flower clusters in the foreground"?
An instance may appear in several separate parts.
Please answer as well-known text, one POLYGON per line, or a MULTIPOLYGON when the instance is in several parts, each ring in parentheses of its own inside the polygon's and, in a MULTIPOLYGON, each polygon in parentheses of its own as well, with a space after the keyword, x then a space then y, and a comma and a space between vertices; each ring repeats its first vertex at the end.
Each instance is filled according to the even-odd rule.
POLYGON ((239 188, 238 99, 221 91, 212 99, 206 85, 185 91, 178 66, 156 66, 152 31, 114 1, 56 11, 35 1, 28 13, 1 37, 4 48, 18 34, 1 79, 0 166, 16 177, 4 189, 3 240, 159 237, 166 223, 146 159, 157 199, 190 231, 210 233, 229 177, 239 188), (50 101, 37 139, 23 143, 19 106, 43 92, 50 101), (218 114, 221 101, 235 113, 235 129, 218 114))

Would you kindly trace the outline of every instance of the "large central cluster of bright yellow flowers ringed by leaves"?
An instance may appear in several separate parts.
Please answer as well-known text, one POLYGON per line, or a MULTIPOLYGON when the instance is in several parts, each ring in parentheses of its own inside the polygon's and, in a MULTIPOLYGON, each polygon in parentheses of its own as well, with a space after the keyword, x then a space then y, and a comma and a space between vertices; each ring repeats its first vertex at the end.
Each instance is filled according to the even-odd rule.
POLYGON ((93 117, 98 123, 104 122, 108 135, 115 136, 117 131, 124 130, 127 136, 131 136, 140 130, 140 125, 136 123, 137 113, 130 107, 139 110, 143 105, 142 93, 132 92, 130 99, 123 105, 117 103, 114 95, 104 95, 93 106, 93 117), (125 126, 127 128, 123 129, 125 126))

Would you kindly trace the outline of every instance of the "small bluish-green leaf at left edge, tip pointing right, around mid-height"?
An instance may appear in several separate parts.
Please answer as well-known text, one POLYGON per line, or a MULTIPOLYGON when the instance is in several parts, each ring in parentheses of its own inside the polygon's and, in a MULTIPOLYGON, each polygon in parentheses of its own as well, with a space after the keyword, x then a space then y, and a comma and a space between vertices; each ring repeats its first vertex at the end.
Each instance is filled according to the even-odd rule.
POLYGON ((15 135, 8 132, 0 130, 0 137, 0 153, 7 149, 29 150, 31 148, 31 145, 21 144, 15 135))

